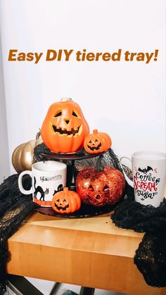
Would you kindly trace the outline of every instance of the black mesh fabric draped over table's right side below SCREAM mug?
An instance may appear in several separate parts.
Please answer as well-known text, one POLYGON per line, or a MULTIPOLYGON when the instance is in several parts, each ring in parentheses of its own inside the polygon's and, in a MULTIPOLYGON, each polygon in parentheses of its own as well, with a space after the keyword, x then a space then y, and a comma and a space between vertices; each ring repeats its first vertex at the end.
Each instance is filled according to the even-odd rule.
POLYGON ((166 287, 166 200, 158 208, 125 199, 110 216, 117 227, 146 232, 134 256, 134 263, 146 283, 166 287))

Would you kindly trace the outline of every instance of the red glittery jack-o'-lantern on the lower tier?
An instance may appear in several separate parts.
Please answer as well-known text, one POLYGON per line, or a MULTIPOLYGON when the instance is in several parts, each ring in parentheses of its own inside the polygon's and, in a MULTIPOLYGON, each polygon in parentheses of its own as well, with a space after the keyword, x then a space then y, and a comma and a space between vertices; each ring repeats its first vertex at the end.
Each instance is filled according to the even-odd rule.
POLYGON ((106 165, 101 168, 99 158, 96 168, 78 172, 76 189, 83 203, 96 207, 113 205, 120 201, 125 189, 125 177, 120 170, 106 165))

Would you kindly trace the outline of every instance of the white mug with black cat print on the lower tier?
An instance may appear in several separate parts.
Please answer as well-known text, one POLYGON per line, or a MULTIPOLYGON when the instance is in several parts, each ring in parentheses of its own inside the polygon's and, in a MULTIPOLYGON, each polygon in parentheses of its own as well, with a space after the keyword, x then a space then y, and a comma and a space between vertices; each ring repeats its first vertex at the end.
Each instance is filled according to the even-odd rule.
POLYGON ((34 203, 41 207, 51 207, 51 201, 56 192, 66 185, 67 165, 58 161, 37 162, 31 170, 25 170, 18 177, 18 187, 22 194, 32 194, 34 203), (23 176, 32 177, 32 187, 23 188, 23 176))

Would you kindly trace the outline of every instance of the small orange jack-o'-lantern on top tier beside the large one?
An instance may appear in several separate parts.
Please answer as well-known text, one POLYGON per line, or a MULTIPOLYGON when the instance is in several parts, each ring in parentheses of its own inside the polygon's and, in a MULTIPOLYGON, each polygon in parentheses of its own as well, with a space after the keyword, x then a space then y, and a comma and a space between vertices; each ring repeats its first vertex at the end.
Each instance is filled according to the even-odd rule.
POLYGON ((87 153, 103 153, 110 149, 112 144, 107 133, 93 130, 93 134, 89 134, 84 140, 84 149, 87 153))

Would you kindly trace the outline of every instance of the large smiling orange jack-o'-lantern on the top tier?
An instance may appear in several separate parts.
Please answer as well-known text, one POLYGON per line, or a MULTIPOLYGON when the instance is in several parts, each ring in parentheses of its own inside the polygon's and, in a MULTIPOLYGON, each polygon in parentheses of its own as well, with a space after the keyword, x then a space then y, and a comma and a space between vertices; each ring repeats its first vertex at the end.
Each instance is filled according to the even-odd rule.
POLYGON ((72 99, 53 103, 41 127, 44 144, 54 152, 73 153, 82 149, 89 125, 72 99))

